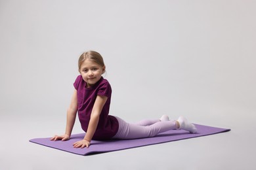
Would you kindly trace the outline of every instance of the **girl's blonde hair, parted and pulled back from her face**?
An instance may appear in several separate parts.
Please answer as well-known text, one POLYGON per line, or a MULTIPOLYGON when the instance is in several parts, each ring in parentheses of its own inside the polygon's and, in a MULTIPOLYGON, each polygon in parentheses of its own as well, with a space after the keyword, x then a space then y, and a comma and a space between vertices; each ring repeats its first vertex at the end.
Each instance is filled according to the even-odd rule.
MULTIPOLYGON (((95 52, 95 51, 83 52, 83 54, 81 54, 81 56, 78 59, 78 71, 79 72, 80 72, 81 65, 82 65, 83 61, 85 61, 86 59, 91 59, 92 61, 95 61, 95 63, 97 63, 101 67, 105 66, 104 60, 98 52, 95 52)), ((105 73, 105 70, 103 71, 103 73, 105 73)))

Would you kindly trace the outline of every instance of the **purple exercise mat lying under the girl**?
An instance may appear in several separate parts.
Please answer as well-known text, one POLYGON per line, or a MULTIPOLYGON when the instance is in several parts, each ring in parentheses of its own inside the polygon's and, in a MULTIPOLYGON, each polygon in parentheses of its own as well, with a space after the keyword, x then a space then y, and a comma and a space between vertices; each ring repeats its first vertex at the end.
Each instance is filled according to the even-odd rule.
POLYGON ((170 130, 160 133, 156 137, 149 137, 143 139, 131 140, 108 140, 108 141, 91 141, 89 148, 74 148, 73 143, 82 140, 85 133, 79 133, 71 136, 69 141, 50 141, 51 137, 31 139, 30 142, 49 146, 66 152, 71 152, 79 155, 88 155, 102 152, 112 152, 116 150, 123 150, 127 148, 135 148, 139 146, 146 146, 150 144, 167 143, 171 141, 178 141, 193 137, 200 137, 205 135, 213 135, 216 133, 230 131, 230 129, 223 129, 219 127, 203 126, 195 124, 198 128, 198 133, 188 133, 184 130, 170 130))

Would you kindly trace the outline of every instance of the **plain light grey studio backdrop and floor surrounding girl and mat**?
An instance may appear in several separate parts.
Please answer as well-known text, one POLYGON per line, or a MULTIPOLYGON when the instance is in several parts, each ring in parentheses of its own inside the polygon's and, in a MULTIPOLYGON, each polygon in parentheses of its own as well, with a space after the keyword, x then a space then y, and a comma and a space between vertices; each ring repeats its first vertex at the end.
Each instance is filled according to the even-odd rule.
POLYGON ((244 0, 1 0, 1 169, 254 169, 255 9, 244 0), (183 115, 232 131, 93 156, 29 143, 64 133, 87 50, 104 57, 110 114, 183 115))

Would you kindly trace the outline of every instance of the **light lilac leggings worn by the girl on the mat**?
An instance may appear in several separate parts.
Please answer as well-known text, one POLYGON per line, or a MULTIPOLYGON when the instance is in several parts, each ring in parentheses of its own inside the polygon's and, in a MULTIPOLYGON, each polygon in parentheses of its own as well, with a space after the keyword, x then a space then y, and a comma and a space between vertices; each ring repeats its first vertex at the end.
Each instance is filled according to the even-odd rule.
POLYGON ((171 129, 177 129, 177 124, 174 120, 163 121, 156 120, 142 120, 137 124, 129 124, 116 116, 119 129, 114 139, 139 139, 144 137, 154 137, 159 133, 171 129))

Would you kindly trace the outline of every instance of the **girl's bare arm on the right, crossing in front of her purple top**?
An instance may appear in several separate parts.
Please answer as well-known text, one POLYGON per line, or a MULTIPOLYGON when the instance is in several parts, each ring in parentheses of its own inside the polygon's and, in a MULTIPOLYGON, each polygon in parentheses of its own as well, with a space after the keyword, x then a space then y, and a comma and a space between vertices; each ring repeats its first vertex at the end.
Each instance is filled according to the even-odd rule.
POLYGON ((98 120, 100 118, 100 112, 102 111, 102 108, 104 107, 108 97, 97 95, 95 104, 93 105, 93 110, 91 112, 91 119, 89 122, 89 126, 87 129, 87 133, 85 134, 85 137, 82 141, 77 141, 74 143, 75 148, 84 148, 85 146, 88 148, 91 139, 93 138, 93 135, 95 134, 96 127, 98 126, 98 120))

